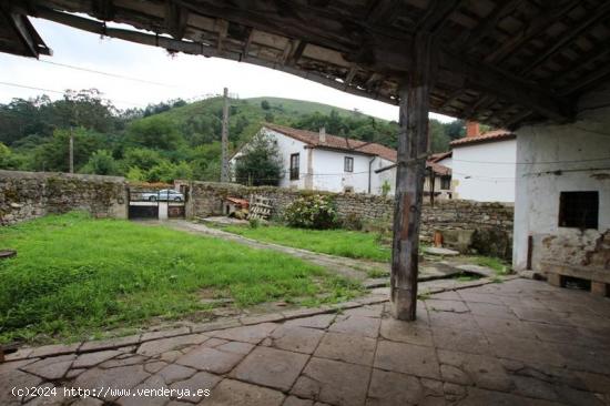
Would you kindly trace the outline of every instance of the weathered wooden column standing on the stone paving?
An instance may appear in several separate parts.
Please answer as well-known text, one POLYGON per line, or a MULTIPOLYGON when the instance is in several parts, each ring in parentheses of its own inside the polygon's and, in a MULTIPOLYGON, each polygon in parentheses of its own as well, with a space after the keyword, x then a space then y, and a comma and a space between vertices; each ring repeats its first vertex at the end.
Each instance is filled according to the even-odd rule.
POLYGON ((394 209, 390 301, 394 317, 414 321, 417 305, 419 220, 428 155, 429 93, 436 73, 431 35, 413 42, 414 65, 400 89, 400 130, 394 209))

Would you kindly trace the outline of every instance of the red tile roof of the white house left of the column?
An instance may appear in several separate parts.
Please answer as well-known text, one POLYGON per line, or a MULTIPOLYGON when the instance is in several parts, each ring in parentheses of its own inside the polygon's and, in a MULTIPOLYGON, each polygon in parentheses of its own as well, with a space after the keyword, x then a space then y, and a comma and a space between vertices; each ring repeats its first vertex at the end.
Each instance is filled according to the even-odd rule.
POLYGON ((284 135, 302 141, 313 148, 327 148, 332 150, 349 151, 355 153, 364 153, 367 155, 377 155, 384 160, 396 162, 397 152, 390 148, 374 142, 366 142, 344 136, 326 134, 326 141, 319 141, 319 133, 307 130, 297 130, 289 126, 265 123, 263 126, 277 131, 284 135))

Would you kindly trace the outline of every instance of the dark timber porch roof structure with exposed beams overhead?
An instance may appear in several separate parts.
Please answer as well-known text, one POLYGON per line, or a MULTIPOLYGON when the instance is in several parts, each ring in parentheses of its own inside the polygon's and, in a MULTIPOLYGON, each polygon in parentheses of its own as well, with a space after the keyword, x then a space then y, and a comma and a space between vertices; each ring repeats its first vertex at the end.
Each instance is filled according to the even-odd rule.
POLYGON ((610 75, 606 0, 7 0, 0 11, 4 52, 49 53, 33 16, 393 104, 424 32, 439 49, 430 110, 508 129, 572 120, 610 75))

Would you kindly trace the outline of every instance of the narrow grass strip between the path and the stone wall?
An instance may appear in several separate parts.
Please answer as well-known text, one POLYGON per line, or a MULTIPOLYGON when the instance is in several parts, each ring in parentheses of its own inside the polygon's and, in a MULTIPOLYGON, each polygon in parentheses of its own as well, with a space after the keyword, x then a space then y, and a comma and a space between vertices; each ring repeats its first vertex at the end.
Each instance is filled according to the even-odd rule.
POLYGON ((375 233, 338 229, 303 230, 282 225, 256 229, 228 225, 222 226, 222 230, 253 240, 350 258, 388 262, 392 256, 390 248, 380 245, 375 233))

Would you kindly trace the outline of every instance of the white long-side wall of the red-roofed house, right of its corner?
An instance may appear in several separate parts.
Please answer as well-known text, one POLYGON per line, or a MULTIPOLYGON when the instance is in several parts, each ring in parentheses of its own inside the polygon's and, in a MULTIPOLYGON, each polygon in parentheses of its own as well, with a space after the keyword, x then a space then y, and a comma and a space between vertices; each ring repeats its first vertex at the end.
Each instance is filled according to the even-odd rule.
POLYGON ((314 189, 344 192, 354 187, 355 193, 368 193, 368 162, 374 156, 353 154, 347 151, 314 150, 314 189), (344 158, 354 159, 354 172, 345 172, 344 158))

